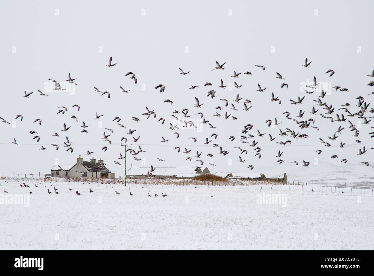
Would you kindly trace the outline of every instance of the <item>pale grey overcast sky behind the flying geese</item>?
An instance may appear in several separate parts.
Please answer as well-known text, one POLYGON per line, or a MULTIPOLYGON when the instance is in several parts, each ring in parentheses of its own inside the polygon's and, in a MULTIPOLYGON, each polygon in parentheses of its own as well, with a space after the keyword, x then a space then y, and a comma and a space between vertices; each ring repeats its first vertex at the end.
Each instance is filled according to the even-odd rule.
MULTIPOLYGON (((373 121, 359 128, 359 140, 351 135, 348 120, 357 126, 363 119, 348 117, 346 122, 337 122, 336 114, 347 113, 338 110, 342 104, 349 102, 351 113, 359 110, 356 97, 364 97, 370 102, 374 89, 367 86, 373 78, 367 75, 374 69, 373 45, 371 31, 374 4, 371 1, 188 1, 175 3, 172 1, 1 1, 0 20, 2 43, 0 44, 2 91, 0 100, 0 117, 11 124, 0 122, 1 170, 10 173, 50 173, 56 162, 59 165, 73 166, 76 158, 81 155, 84 160, 91 157, 104 159, 107 168, 123 175, 124 160, 119 160, 119 154, 124 154, 120 146, 122 137, 128 138, 128 144, 138 151, 138 145, 144 153, 139 153, 136 161, 128 156, 128 168, 133 166, 201 166, 196 160, 203 160, 203 166, 208 166, 211 172, 251 172, 268 175, 287 172, 300 175, 300 172, 311 171, 327 173, 338 167, 350 169, 360 168, 361 162, 372 161, 374 151, 373 138, 370 129, 373 121), (105 67, 110 56, 117 63, 113 68, 105 67), (312 61, 309 68, 301 67, 304 60, 312 61), (215 61, 224 65, 224 70, 214 70, 215 61), (255 67, 263 65, 266 70, 255 67), (187 76, 180 74, 179 67, 187 76), (335 71, 332 77, 325 72, 335 71), (234 79, 234 70, 242 74, 234 79), (129 71, 135 73, 138 83, 125 77, 129 71), (244 75, 250 71, 252 76, 244 75), (285 80, 276 79, 279 72, 285 80), (71 91, 53 91, 48 79, 54 79, 65 85, 68 74, 76 78, 78 85, 71 91), (303 89, 304 83, 313 82, 316 77, 321 86, 313 94, 307 94, 303 89), (226 89, 219 88, 223 79, 226 89), (230 88, 234 84, 242 85, 240 89, 230 88), (212 87, 203 86, 211 82, 212 87), (256 91, 257 83, 264 92, 256 91), (281 84, 288 88, 281 89, 281 84), (165 91, 160 93, 154 87, 163 84, 165 91), (191 85, 199 86, 189 89, 191 85), (321 95, 321 87, 325 85, 328 94, 321 99, 335 107, 332 117, 322 118, 327 110, 316 105, 313 99, 321 95), (120 91, 120 86, 128 93, 120 91), (349 92, 335 91, 334 86, 348 88, 349 92), (108 91, 101 96, 93 87, 100 91, 108 91), (229 89, 228 89, 229 88, 229 89), (49 96, 39 95, 40 91, 49 96), (207 97, 210 89, 216 91, 217 98, 207 97), (33 92, 30 98, 24 98, 24 91, 33 92), (282 104, 269 101, 271 93, 279 96, 282 104), (239 103, 233 102, 239 94, 239 103), (305 96, 302 104, 292 105, 289 99, 297 101, 305 96), (194 107, 195 97, 203 103, 201 108, 194 107), (166 99, 173 104, 164 103, 166 99), (230 101, 228 107, 224 101, 230 101), (249 99, 252 106, 249 111, 243 111, 243 102, 249 99), (231 110, 231 103, 238 111, 231 110), (78 111, 74 104, 80 106, 78 111), (67 107, 65 114, 59 113, 61 106, 67 107), (154 110, 156 118, 142 115, 145 106, 154 110), (216 110, 221 106, 221 111, 216 110), (320 109, 315 115, 310 114, 312 107, 320 109), (204 113, 215 129, 209 125, 201 125, 198 130, 169 129, 174 110, 182 111, 188 108, 191 115, 188 119, 200 120, 198 112, 204 113), (298 118, 299 111, 305 111, 303 118, 298 118), (223 119, 226 111, 237 120, 223 119), (301 129, 288 120, 282 113, 289 111, 289 117, 300 120, 313 118, 319 131, 315 128, 301 129), (94 119, 104 114, 100 119, 94 119), (214 117, 218 112, 222 117, 214 117), (17 115, 24 116, 15 119, 17 115), (76 116, 78 122, 71 116, 76 116), (114 117, 120 117, 121 128, 114 117), (135 122, 132 117, 140 119, 135 122), (279 126, 269 128, 265 121, 277 118, 279 126), (42 125, 33 123, 42 119, 42 125), (160 118, 165 119, 158 122, 160 118), (16 123, 14 123, 14 122, 16 123), (88 133, 82 133, 82 121, 89 125, 88 133), (63 124, 71 126, 67 132, 61 131, 63 124), (243 126, 253 125, 249 134, 241 134, 243 126), (336 141, 328 139, 339 126, 344 127, 336 141), (112 129, 114 132, 106 130, 112 129), (136 129, 133 135, 128 135, 129 129, 136 129), (279 136, 279 129, 286 128, 296 133, 307 134, 309 138, 291 138, 279 136), (257 129, 263 137, 256 136, 257 129), (32 139, 29 131, 38 132, 40 141, 32 139), (103 132, 111 134, 108 137, 111 144, 102 141, 103 132), (58 137, 52 136, 54 133, 58 137), (180 138, 176 138, 179 132, 180 138), (212 139, 213 133, 218 134, 212 139), (269 134, 276 137, 269 141, 269 134), (241 135, 248 138, 243 140, 241 135), (73 153, 63 147, 65 137, 72 142, 73 153), (131 142, 132 136, 138 142, 131 142), (233 141, 229 137, 234 136, 233 141), (163 143, 162 137, 169 139, 163 143), (194 142, 189 137, 197 138, 194 142), (204 145, 205 138, 212 139, 209 145, 204 145), (12 144, 13 138, 19 145, 12 144), (319 138, 331 143, 331 148, 324 147, 319 138), (244 144, 240 140, 247 141, 244 144), (252 141, 259 141, 261 159, 254 157, 252 141), (292 144, 282 146, 276 141, 291 140, 292 144), (338 148, 340 141, 345 142, 344 148, 338 148), (229 154, 218 154, 217 143, 229 154), (60 145, 59 150, 51 144, 60 145), (47 150, 39 150, 42 145, 47 150), (182 148, 180 153, 175 146, 182 148), (363 146, 369 150, 363 156, 358 155, 363 146), (104 152, 101 148, 107 146, 104 152), (240 154, 236 147, 248 150, 240 154), (191 149, 189 154, 183 153, 184 147, 191 149), (315 151, 321 149, 322 154, 315 151), (93 151, 92 156, 85 155, 87 150, 93 151), (277 157, 278 150, 284 152, 277 157), (195 158, 196 151, 202 152, 200 158, 195 158), (206 156, 213 154, 214 158, 206 156), (332 154, 338 158, 331 159, 332 154), (245 162, 238 162, 239 156, 245 162), (192 161, 185 160, 191 157, 192 161), (165 160, 164 162, 157 158, 165 160), (318 165, 314 165, 318 158, 318 165), (282 159, 284 163, 278 164, 282 159), (340 161, 348 159, 347 164, 340 161), (308 167, 301 166, 303 160, 309 161, 308 167), (118 161, 121 165, 116 165, 118 161), (290 162, 297 161, 299 165, 290 162), (142 164, 143 162, 143 164, 142 164), (215 164, 213 167, 209 163, 215 164), (253 170, 247 167, 254 165, 253 170), (297 170, 295 170, 295 168, 297 170)), ((374 116, 370 109, 365 113, 367 119, 374 116)), ((175 114, 181 119, 187 119, 181 114, 175 114)), ((326 114, 327 116, 327 114, 326 114)), ((124 141, 123 141, 124 142, 124 141)), ((366 167, 370 174, 373 165, 366 167)), ((344 171, 345 169, 343 169, 344 171)), ((354 170, 353 170, 354 171, 354 170)))

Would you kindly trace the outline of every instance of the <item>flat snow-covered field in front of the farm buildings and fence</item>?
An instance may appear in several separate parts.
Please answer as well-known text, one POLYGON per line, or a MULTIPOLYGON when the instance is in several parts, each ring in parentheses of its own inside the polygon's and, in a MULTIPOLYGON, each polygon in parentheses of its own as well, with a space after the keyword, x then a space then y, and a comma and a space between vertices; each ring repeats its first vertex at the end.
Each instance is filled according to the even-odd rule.
POLYGON ((0 249, 374 249, 371 189, 271 187, 0 180, 0 249))

